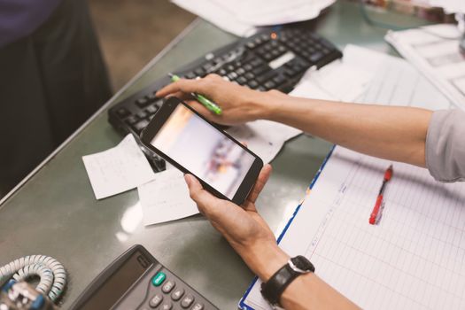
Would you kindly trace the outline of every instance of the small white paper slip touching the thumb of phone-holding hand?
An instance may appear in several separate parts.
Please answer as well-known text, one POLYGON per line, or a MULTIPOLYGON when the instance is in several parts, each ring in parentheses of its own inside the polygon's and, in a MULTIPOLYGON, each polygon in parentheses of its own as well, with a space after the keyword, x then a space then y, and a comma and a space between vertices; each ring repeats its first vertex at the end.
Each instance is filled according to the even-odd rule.
POLYGON ((198 208, 189 196, 184 175, 178 169, 155 174, 155 179, 137 188, 145 226, 174 221, 197 214, 198 208))

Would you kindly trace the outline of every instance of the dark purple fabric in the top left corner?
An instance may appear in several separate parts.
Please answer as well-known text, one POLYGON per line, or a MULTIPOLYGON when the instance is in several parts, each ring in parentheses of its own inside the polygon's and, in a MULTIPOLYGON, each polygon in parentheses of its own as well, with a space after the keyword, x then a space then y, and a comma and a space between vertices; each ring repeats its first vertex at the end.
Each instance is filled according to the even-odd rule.
POLYGON ((0 47, 30 35, 61 0, 0 0, 0 47))

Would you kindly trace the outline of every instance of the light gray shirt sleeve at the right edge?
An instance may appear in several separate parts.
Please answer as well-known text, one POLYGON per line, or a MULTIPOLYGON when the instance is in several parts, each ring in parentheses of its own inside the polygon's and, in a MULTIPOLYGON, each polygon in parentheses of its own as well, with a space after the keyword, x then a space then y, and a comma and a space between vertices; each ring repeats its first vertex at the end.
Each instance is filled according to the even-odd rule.
POLYGON ((426 167, 436 180, 465 181, 465 112, 433 112, 425 156, 426 167))

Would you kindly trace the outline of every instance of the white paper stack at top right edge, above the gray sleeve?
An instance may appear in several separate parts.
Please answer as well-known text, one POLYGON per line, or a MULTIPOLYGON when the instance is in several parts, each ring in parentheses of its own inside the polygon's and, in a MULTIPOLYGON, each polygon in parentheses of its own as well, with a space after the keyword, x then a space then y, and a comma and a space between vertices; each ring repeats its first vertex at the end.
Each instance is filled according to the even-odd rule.
POLYGON ((465 109, 465 56, 453 25, 389 32, 385 39, 418 68, 455 105, 465 109))

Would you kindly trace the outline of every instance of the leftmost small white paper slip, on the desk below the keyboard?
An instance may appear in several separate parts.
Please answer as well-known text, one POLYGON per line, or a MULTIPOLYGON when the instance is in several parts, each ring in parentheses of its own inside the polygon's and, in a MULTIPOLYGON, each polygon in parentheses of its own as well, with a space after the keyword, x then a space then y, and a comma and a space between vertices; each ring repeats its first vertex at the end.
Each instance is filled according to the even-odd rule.
POLYGON ((112 149, 82 157, 97 199, 153 180, 155 174, 132 135, 112 149))

